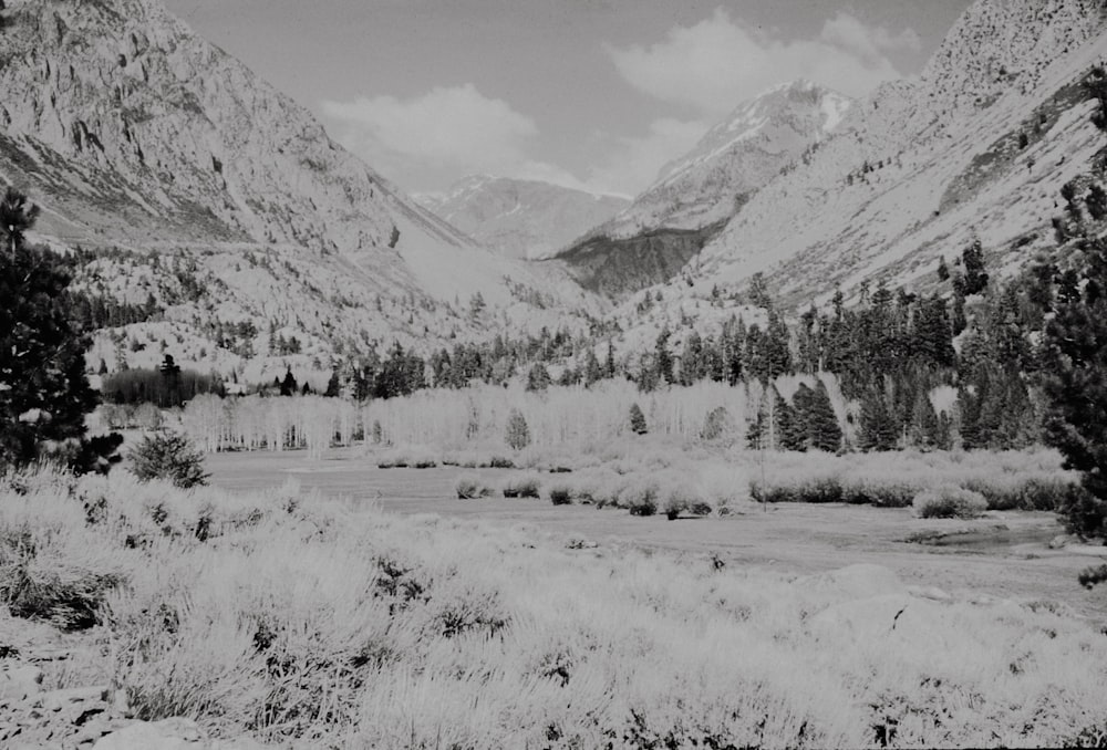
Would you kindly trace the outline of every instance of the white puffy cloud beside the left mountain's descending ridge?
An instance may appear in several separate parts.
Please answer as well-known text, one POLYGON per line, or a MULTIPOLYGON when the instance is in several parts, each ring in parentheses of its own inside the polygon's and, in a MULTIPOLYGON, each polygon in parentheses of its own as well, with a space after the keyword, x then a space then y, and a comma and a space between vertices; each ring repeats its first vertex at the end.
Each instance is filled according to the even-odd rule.
POLYGON ((322 103, 335 137, 374 168, 405 183, 442 183, 469 173, 511 174, 529 162, 535 122, 467 83, 421 96, 322 103))

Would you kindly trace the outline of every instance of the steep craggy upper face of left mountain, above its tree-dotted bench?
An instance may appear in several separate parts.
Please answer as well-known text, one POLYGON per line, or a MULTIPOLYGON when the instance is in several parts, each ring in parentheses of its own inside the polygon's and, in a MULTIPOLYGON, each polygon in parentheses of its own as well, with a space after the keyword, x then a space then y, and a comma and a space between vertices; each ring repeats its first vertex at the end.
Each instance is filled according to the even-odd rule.
MULTIPOLYGON (((462 241, 156 2, 17 0, 4 18, 4 136, 32 159, 83 167, 139 226, 168 218, 163 232, 182 238, 356 252, 386 248, 403 207, 423 231, 462 241)), ((108 218, 95 223, 111 232, 108 218)))

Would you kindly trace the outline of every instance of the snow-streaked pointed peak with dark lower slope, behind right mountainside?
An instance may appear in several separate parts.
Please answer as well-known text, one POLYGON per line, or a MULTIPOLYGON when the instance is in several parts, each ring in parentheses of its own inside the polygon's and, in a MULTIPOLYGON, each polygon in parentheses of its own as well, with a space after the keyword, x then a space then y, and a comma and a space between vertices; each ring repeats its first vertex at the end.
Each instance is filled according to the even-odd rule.
POLYGON ((761 186, 808 163, 850 108, 849 98, 807 81, 742 103, 559 260, 583 287, 610 296, 672 279, 761 186))

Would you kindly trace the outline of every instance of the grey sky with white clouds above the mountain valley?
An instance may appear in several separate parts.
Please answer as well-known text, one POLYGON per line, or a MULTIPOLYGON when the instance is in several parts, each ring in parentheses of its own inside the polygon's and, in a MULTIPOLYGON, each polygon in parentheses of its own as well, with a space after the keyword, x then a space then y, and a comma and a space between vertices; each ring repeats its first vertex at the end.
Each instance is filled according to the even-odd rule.
POLYGON ((168 0, 412 191, 634 195, 739 102, 918 74, 969 0, 168 0))

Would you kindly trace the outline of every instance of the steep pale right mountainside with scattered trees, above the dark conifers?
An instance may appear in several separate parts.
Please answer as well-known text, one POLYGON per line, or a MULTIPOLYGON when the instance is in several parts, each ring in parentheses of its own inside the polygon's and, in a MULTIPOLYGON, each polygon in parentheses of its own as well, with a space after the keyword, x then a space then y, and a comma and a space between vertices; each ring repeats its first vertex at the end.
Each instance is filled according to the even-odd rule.
POLYGON ((1062 186, 1086 191, 1107 147, 1086 85, 1105 14, 1092 0, 979 0, 919 81, 878 90, 758 190, 673 295, 759 271, 806 304, 866 279, 928 283, 974 237, 993 269, 1048 249, 1062 186))

